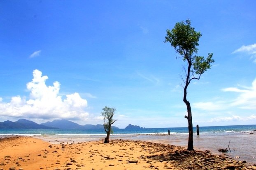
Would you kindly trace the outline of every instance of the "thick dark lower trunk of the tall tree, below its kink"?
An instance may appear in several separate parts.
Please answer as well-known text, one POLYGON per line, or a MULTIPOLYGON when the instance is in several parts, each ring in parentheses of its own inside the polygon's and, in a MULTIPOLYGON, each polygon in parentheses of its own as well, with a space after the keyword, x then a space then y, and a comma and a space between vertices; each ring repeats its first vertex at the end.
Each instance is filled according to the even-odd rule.
POLYGON ((192 113, 191 113, 191 107, 190 107, 189 101, 187 101, 186 105, 187 105, 187 111, 188 111, 188 116, 186 118, 188 119, 188 123, 189 123, 189 142, 188 142, 188 149, 187 150, 194 150, 194 147, 193 147, 192 113))

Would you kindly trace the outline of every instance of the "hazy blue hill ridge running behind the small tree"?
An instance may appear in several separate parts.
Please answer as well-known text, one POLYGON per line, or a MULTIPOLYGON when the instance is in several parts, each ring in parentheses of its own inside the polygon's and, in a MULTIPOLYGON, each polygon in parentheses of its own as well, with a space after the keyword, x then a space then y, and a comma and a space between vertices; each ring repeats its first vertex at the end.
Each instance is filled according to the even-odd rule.
MULTIPOLYGON (((79 125, 70 120, 54 120, 52 122, 41 123, 41 125, 56 127, 60 129, 93 129, 93 130, 103 130, 103 125, 79 125)), ((112 126, 113 129, 119 129, 118 127, 112 126)))

